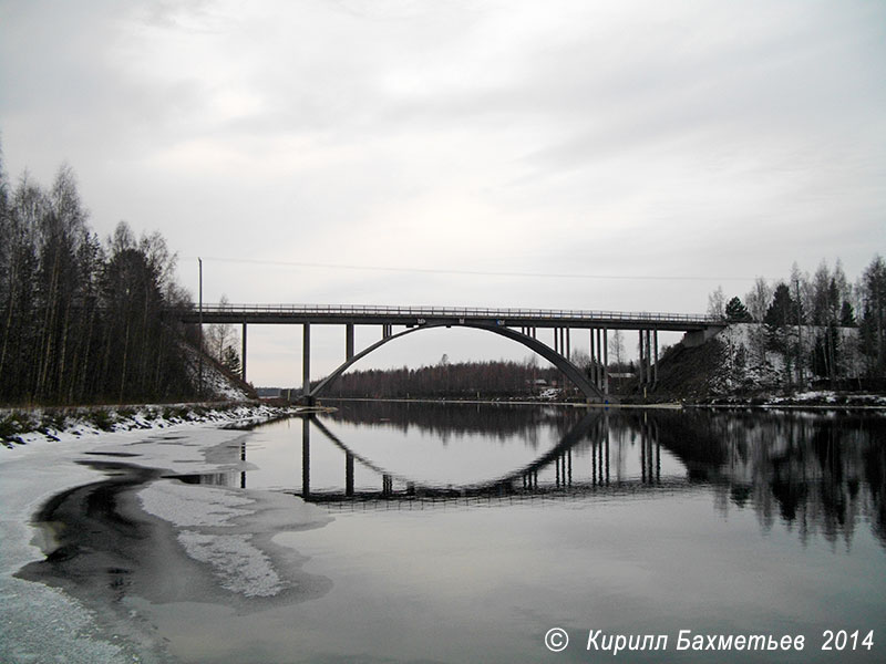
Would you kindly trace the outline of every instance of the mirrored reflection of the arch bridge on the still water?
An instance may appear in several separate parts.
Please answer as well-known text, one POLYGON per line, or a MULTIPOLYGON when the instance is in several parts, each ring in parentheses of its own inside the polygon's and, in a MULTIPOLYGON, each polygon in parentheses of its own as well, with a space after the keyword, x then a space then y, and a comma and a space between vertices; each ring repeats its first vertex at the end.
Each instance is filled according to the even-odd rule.
POLYGON ((610 427, 608 414, 599 411, 589 411, 575 424, 559 442, 546 454, 533 463, 509 473, 503 477, 480 484, 460 487, 431 486, 415 483, 408 477, 402 477, 379 467, 371 459, 353 452, 338 436, 315 417, 302 421, 301 443, 301 496, 309 502, 348 504, 348 502, 375 502, 380 506, 391 501, 446 501, 453 499, 477 499, 492 501, 514 499, 535 499, 539 497, 568 497, 584 496, 589 491, 614 489, 619 492, 632 491, 650 486, 667 486, 677 488, 688 487, 686 480, 661 480, 661 444, 657 436, 653 422, 646 417, 640 425, 640 466, 639 478, 612 480, 610 470, 610 427), (344 453, 343 490, 312 490, 311 489, 311 427, 316 427, 326 439, 331 442, 344 453), (580 444, 590 447, 590 476, 574 479, 574 449, 580 444), (380 487, 375 490, 356 489, 354 464, 374 471, 380 477, 380 487), (539 484, 539 471, 552 467, 552 480, 539 484), (394 488, 394 487, 398 488, 394 488))

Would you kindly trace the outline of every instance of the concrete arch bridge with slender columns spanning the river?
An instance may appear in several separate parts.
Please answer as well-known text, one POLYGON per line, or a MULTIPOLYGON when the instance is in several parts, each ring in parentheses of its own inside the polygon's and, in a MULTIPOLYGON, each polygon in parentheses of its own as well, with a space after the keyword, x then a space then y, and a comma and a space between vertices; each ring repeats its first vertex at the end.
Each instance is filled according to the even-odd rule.
POLYGON ((356 362, 382 345, 422 330, 470 328, 516 341, 542 355, 581 391, 588 402, 607 401, 609 395, 610 330, 636 330, 639 334, 639 380, 641 385, 658 381, 658 333, 684 333, 684 343, 698 345, 719 332, 724 322, 703 314, 588 311, 565 309, 490 309, 459 307, 372 307, 303 304, 204 304, 200 309, 172 310, 169 315, 185 323, 243 325, 241 371, 246 380, 246 334, 249 324, 302 325, 302 395, 310 403, 320 396, 356 362), (311 387, 311 325, 344 326, 344 362, 311 387), (378 325, 381 338, 360 352, 354 351, 354 326, 378 325), (403 330, 394 331, 394 328, 403 330), (553 332, 553 343, 539 340, 538 330, 553 332), (589 333, 589 375, 571 361, 571 331, 589 333))

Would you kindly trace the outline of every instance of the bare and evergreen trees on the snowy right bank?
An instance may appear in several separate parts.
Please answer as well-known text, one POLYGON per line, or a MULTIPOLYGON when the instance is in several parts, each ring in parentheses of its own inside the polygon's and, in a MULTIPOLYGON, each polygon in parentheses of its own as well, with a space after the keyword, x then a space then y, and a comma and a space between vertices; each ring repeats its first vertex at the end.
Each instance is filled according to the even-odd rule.
POLYGON ((708 298, 708 313, 730 323, 762 323, 751 332, 751 353, 765 362, 780 353, 792 381, 832 383, 886 377, 886 262, 875 255, 849 282, 839 260, 822 261, 814 274, 794 263, 791 277, 770 283, 759 277, 744 295, 725 300, 722 287, 708 298))

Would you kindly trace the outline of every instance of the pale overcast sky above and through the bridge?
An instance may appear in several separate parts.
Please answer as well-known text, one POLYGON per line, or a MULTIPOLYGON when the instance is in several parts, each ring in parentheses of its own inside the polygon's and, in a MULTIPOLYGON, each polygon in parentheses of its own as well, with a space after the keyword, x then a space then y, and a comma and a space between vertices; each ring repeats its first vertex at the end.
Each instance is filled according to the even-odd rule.
MULTIPOLYGON (((195 299, 202 257, 207 302, 703 313, 886 253, 886 2, 0 0, 0 142, 13 180, 70 164, 100 236, 161 231, 195 299)), ((300 328, 248 342, 300 384, 300 328)), ((358 366, 443 353, 528 351, 358 366)))

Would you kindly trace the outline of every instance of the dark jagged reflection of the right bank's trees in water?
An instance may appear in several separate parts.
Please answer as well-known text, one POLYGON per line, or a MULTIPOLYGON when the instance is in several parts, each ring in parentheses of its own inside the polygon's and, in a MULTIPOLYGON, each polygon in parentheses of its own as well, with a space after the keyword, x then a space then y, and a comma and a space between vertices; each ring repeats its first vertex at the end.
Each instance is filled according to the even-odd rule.
POLYGON ((660 440, 718 508, 749 504, 764 530, 781 519, 804 542, 848 546, 861 519, 886 546, 886 419, 863 415, 689 412, 657 415, 660 440))

